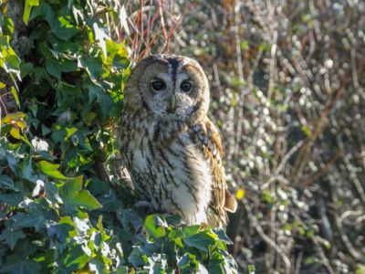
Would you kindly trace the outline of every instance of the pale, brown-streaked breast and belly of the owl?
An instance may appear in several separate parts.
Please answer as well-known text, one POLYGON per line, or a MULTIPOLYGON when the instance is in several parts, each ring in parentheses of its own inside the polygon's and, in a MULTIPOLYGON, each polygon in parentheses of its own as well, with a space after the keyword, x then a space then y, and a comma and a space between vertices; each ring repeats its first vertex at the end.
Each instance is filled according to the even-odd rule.
POLYGON ((189 224, 206 222, 212 190, 209 163, 187 128, 178 128, 151 122, 134 132, 124 155, 136 190, 156 210, 179 214, 189 224))

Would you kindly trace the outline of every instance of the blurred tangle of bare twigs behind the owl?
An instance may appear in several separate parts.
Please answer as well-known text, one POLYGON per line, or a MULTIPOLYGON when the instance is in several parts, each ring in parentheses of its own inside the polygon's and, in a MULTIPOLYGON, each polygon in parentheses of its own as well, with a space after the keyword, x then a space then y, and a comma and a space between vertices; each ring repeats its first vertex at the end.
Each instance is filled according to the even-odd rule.
POLYGON ((365 273, 365 3, 128 1, 134 61, 196 58, 240 199, 231 252, 256 273, 365 273))

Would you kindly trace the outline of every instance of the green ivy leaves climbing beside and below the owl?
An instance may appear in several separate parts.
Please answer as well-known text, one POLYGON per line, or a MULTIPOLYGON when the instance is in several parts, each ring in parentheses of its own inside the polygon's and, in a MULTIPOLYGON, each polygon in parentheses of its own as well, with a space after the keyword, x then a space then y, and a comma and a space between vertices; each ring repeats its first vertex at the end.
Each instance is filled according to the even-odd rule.
POLYGON ((223 230, 131 208, 110 173, 130 73, 128 47, 110 38, 124 7, 64 2, 26 1, 16 54, 0 1, 0 67, 13 79, 0 88, 20 105, 1 120, 0 272, 235 273, 223 230))

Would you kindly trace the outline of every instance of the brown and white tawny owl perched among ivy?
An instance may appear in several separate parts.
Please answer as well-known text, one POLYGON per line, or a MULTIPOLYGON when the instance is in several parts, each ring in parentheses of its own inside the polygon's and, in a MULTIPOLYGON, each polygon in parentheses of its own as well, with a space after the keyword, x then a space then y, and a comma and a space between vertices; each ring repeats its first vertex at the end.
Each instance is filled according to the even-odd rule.
POLYGON ((209 101, 208 79, 192 58, 142 59, 125 88, 120 153, 137 195, 153 211, 222 227, 237 203, 225 183, 209 101))

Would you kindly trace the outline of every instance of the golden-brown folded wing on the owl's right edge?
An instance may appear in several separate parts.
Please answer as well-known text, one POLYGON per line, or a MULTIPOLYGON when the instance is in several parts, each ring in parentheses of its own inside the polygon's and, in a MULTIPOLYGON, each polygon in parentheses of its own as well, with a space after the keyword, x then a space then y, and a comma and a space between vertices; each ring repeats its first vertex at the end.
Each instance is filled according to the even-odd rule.
POLYGON ((227 189, 224 169, 222 165, 222 142, 221 136, 214 123, 206 118, 205 121, 193 126, 194 140, 203 150, 212 173, 212 200, 210 208, 218 218, 218 223, 225 223, 225 211, 235 212, 237 202, 227 189))

